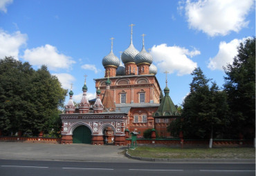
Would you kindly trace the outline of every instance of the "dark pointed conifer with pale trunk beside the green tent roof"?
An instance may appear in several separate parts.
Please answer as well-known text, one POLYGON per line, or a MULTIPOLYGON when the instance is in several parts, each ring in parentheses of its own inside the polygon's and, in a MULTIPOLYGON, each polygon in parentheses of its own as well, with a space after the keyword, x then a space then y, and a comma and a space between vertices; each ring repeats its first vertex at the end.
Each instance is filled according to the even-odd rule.
POLYGON ((183 101, 182 126, 184 137, 205 139, 221 133, 220 126, 228 124, 228 105, 226 94, 216 83, 203 75, 201 68, 195 68, 191 74, 190 94, 183 101))

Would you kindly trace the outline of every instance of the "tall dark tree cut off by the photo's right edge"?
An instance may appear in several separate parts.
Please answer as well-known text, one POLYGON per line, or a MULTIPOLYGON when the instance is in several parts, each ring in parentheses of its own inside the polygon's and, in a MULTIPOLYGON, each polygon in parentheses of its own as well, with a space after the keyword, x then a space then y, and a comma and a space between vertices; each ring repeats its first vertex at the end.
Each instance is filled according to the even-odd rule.
POLYGON ((226 72, 224 88, 228 94, 232 137, 255 137, 255 37, 240 43, 238 54, 226 72))

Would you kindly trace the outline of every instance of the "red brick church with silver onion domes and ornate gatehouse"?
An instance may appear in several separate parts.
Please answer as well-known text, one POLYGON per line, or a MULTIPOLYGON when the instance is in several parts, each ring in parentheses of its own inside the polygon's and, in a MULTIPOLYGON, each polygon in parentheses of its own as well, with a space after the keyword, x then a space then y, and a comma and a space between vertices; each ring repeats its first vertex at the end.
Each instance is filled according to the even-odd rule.
MULTIPOLYGON (((113 39, 111 52, 102 59, 105 74, 103 78, 94 79, 96 99, 87 99, 84 81, 82 99, 75 107, 71 88, 65 113, 60 115, 62 144, 125 145, 125 139, 129 137, 127 131, 136 131, 143 136, 143 132, 154 128, 156 122, 156 126, 161 126, 160 117, 165 116, 165 112, 158 112, 164 102, 160 104, 162 94, 156 79, 157 68, 152 64, 152 55, 145 50, 144 35, 142 50, 139 52, 134 48, 132 26, 131 42, 127 50, 122 52, 122 61, 113 54, 113 39), (154 116, 158 117, 157 121, 154 116)), ((167 106, 172 110, 166 113, 167 117, 177 115, 172 102, 167 106)), ((167 121, 162 122, 166 126, 167 121)))

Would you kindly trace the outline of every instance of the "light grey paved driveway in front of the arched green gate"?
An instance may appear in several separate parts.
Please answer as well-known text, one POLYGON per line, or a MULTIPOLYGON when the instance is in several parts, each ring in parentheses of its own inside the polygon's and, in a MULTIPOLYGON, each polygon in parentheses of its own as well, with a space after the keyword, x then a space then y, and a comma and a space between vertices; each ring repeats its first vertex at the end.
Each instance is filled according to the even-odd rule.
POLYGON ((99 162, 134 162, 125 157, 126 146, 91 144, 35 144, 0 142, 0 159, 75 160, 99 162))

